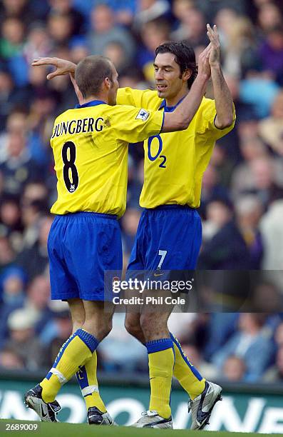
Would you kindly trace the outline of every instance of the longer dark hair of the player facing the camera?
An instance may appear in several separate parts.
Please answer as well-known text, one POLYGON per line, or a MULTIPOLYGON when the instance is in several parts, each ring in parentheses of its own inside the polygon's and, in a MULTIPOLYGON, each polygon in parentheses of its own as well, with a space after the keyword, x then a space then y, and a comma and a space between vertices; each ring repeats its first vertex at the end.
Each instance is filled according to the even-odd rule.
POLYGON ((195 62, 195 51, 192 46, 188 46, 185 42, 168 42, 161 44, 155 49, 155 56, 159 53, 172 53, 175 55, 175 61, 180 66, 181 74, 186 70, 191 70, 192 75, 187 81, 187 88, 190 89, 192 82, 197 77, 197 64, 195 62))

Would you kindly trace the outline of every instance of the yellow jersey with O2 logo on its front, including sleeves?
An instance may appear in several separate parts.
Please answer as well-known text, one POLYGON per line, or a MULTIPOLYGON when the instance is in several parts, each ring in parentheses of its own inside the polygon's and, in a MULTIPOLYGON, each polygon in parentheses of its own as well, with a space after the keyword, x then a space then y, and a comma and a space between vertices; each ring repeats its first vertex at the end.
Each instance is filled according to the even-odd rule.
MULTIPOLYGON (((170 112, 157 91, 118 89, 117 103, 143 107, 148 111, 170 112)), ((179 102, 180 103, 180 102, 179 102)), ((165 204, 200 206, 202 175, 212 155, 215 141, 234 125, 217 129, 215 101, 203 97, 197 113, 185 131, 150 136, 145 143, 144 183, 140 206, 155 208, 165 204)))

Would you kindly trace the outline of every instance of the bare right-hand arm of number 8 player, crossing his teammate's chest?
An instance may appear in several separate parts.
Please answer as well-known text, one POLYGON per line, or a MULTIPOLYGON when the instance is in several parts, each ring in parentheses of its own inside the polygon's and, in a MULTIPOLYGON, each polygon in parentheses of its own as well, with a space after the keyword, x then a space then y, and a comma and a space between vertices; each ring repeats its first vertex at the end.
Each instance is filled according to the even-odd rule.
POLYGON ((210 50, 211 44, 200 54, 197 77, 185 99, 177 106, 175 111, 164 114, 161 132, 183 131, 187 129, 195 116, 205 94, 207 81, 210 79, 210 64, 208 61, 210 50))

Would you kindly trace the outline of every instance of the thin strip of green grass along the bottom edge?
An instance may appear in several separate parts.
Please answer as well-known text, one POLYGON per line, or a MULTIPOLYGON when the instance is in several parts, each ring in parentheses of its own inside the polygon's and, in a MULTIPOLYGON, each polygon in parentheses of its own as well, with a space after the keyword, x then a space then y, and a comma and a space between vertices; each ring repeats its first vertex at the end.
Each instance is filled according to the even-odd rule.
MULTIPOLYGON (((189 431, 189 430, 159 430, 137 429, 125 426, 89 426, 86 423, 43 423, 30 421, 0 421, 0 435, 34 436, 34 437, 262 437, 268 434, 258 433, 230 433, 227 431, 189 431), (37 423, 37 431, 6 431, 7 423, 37 423)), ((279 437, 280 434, 272 434, 279 437)))

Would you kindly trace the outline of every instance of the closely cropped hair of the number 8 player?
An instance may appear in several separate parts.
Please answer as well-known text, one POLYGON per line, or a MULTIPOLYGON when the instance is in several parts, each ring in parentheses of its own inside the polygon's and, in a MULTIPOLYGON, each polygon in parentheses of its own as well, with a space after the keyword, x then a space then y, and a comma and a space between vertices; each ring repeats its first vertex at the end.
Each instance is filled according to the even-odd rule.
POLYGON ((105 56, 86 56, 76 68, 76 83, 84 99, 98 94, 106 77, 113 80, 110 60, 105 56))

